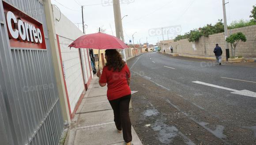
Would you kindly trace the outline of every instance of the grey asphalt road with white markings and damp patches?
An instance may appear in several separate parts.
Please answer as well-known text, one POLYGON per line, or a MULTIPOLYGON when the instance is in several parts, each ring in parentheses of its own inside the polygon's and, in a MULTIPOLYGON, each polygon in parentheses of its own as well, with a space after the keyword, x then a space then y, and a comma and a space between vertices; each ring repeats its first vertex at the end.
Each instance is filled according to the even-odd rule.
POLYGON ((256 144, 256 67, 169 57, 128 61, 132 124, 144 145, 256 144))

